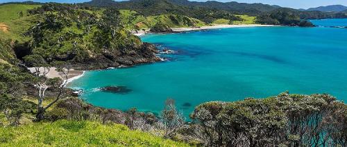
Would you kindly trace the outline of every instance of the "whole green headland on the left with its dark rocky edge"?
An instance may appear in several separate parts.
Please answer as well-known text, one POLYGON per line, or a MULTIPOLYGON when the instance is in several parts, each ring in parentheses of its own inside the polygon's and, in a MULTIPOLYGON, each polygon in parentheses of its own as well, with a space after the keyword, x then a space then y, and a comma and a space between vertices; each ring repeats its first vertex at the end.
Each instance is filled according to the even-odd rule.
MULTIPOLYGON (((16 54, 21 54, 17 54, 19 59, 36 54, 48 63, 71 61, 75 68, 83 69, 158 60, 155 47, 142 43, 124 28, 126 24, 115 9, 58 3, 40 7, 11 4, 0 8, 1 18, 6 18, 0 23, 0 41, 12 40, 6 46, 17 50, 16 54)), ((1 56, 9 54, 5 53, 1 52, 1 56)), ((6 61, 1 56, 1 62, 6 61)))

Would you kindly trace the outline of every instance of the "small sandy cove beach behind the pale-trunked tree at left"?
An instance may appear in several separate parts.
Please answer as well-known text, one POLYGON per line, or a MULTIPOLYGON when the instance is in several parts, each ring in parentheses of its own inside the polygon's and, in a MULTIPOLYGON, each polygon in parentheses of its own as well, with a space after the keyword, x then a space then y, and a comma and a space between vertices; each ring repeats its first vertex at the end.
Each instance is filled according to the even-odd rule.
MULTIPOLYGON (((32 73, 35 72, 35 68, 28 68, 32 73)), ((40 68, 40 72, 44 72, 44 68, 40 68)), ((74 81, 75 79, 78 79, 80 77, 83 77, 85 71, 83 70, 69 70, 69 74, 67 75, 67 83, 74 81)), ((62 80, 66 80, 62 76, 60 76, 60 73, 56 70, 56 68, 52 67, 50 68, 49 72, 46 74, 47 78, 56 78, 59 77, 62 80)))

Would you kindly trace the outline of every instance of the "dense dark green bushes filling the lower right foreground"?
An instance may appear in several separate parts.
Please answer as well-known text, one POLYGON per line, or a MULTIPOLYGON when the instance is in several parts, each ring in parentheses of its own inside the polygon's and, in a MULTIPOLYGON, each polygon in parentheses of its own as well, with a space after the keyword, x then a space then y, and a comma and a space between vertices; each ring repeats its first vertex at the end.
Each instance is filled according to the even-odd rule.
POLYGON ((330 95, 209 102, 191 117, 206 146, 346 146, 347 107, 330 95))

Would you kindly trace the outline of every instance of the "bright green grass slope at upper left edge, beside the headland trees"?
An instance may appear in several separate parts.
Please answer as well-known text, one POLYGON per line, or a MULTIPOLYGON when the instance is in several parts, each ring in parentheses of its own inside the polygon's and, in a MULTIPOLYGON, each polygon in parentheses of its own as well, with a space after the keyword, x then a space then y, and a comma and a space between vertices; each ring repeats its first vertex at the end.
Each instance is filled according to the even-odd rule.
POLYGON ((12 39, 23 41, 26 38, 23 34, 29 27, 35 24, 38 19, 37 16, 27 16, 26 10, 37 8, 39 5, 24 5, 24 4, 10 4, 0 6, 0 24, 6 25, 8 30, 3 31, 0 29, 1 39, 12 39), (19 18, 19 12, 23 12, 22 18, 19 18))

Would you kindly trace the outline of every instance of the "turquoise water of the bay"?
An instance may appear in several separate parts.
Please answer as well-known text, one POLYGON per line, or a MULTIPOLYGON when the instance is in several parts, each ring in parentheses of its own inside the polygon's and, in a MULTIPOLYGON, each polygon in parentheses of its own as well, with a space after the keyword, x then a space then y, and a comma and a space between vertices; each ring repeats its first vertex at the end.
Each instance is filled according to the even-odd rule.
MULTIPOLYGON (((345 19, 347 22, 347 20, 345 19)), ((185 116, 205 101, 237 101, 291 93, 328 92, 347 101, 347 29, 225 28, 143 41, 176 50, 170 61, 86 72, 69 86, 82 88, 87 102, 105 108, 160 113, 167 98, 185 116), (130 92, 101 92, 126 86, 130 92)))

